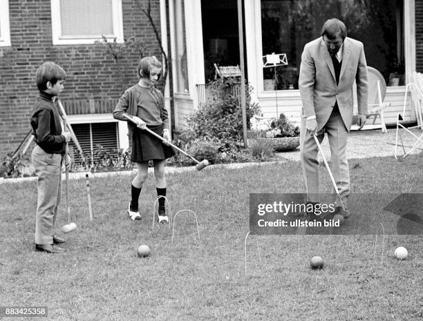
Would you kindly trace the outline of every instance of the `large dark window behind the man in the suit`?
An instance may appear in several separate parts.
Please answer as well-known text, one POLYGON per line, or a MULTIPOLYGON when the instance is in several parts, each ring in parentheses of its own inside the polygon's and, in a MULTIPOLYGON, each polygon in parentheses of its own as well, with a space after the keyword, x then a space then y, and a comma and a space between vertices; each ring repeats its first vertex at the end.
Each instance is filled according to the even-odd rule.
POLYGON ((364 43, 368 66, 388 86, 404 84, 403 0, 261 0, 263 56, 285 53, 288 66, 263 68, 265 90, 298 89, 304 45, 321 35, 332 17, 344 21, 348 37, 364 43))

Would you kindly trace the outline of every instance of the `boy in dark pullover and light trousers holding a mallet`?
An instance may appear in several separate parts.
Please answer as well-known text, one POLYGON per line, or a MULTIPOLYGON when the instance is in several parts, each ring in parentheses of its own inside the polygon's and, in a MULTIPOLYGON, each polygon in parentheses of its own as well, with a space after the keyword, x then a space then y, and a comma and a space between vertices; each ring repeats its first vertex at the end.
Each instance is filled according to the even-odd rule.
POLYGON ((62 131, 56 97, 62 93, 66 72, 54 62, 39 66, 35 75, 39 97, 35 101, 30 117, 32 135, 37 143, 32 150, 31 162, 37 180, 37 214, 35 216, 35 249, 47 253, 60 253, 64 249, 55 244, 64 243, 53 234, 60 202, 62 184, 62 162, 71 166, 71 157, 66 155, 66 143, 71 133, 62 131))

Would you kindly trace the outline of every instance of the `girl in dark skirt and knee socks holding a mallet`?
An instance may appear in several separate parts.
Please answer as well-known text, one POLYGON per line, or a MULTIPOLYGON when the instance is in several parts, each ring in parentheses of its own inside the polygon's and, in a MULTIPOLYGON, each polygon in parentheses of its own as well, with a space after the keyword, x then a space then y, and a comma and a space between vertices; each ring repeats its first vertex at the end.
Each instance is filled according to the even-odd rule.
MULTIPOLYGON (((129 115, 129 137, 132 138, 131 161, 137 164, 137 175, 132 181, 131 202, 128 205, 128 213, 131 220, 141 220, 138 212, 138 197, 141 193, 142 184, 148 176, 149 160, 154 163, 154 176, 156 177, 156 190, 158 197, 166 196, 166 177, 164 165, 166 159, 175 155, 173 149, 164 145, 160 139, 143 130, 148 127, 155 133, 162 135, 170 142, 169 119, 167 110, 164 108, 164 98, 154 84, 160 79, 162 64, 156 57, 144 57, 138 64, 138 77, 140 81, 135 86, 128 88, 113 111, 115 119, 129 121, 124 114, 129 115)), ((158 220, 160 223, 169 222, 164 209, 164 198, 158 200, 158 220)))

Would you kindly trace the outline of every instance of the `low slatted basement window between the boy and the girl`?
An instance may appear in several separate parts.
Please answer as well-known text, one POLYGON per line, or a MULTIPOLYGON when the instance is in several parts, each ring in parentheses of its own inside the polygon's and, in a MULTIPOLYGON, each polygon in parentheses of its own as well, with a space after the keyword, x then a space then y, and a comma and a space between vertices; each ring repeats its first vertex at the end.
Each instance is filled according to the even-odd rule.
MULTIPOLYGON (((98 145, 101 145, 104 150, 119 150, 118 144, 118 123, 115 121, 108 123, 93 123, 93 124, 72 124, 72 129, 78 139, 79 145, 84 150, 84 156, 93 166, 98 161, 98 145)), ((81 157, 77 147, 71 141, 69 144, 69 153, 74 162, 81 162, 81 157)))

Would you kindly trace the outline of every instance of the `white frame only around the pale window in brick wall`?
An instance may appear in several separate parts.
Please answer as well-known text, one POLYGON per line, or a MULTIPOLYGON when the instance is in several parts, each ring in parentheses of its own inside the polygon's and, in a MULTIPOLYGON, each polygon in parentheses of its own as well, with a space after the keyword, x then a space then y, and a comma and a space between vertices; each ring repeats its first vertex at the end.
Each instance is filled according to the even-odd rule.
MULTIPOLYGON (((105 35, 108 41, 124 43, 122 0, 112 1, 113 35, 105 35)), ((53 45, 94 44, 102 40, 102 35, 62 36, 60 0, 50 0, 51 28, 53 45)))

